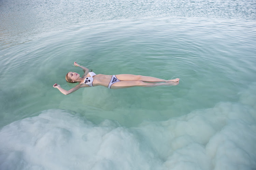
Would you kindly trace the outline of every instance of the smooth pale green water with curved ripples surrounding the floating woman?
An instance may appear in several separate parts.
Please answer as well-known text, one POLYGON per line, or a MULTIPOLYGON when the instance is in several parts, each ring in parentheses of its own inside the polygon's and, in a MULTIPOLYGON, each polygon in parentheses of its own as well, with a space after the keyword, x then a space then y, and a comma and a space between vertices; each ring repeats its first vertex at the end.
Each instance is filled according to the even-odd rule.
MULTIPOLYGON (((134 125, 212 107, 219 101, 237 101, 238 91, 254 82, 256 51, 251 36, 254 24, 238 23, 187 19, 105 22, 54 31, 5 49, 8 62, 1 71, 3 86, 8 88, 2 91, 3 115, 17 115, 18 119, 63 108, 134 125), (175 87, 95 87, 63 96, 52 85, 71 88, 66 73, 82 72, 72 65, 74 61, 96 73, 181 80, 175 87), (94 109, 85 111, 86 107, 94 109), (120 116, 122 113, 126 114, 120 116)), ((13 116, 9 119, 15 120, 13 116)))

